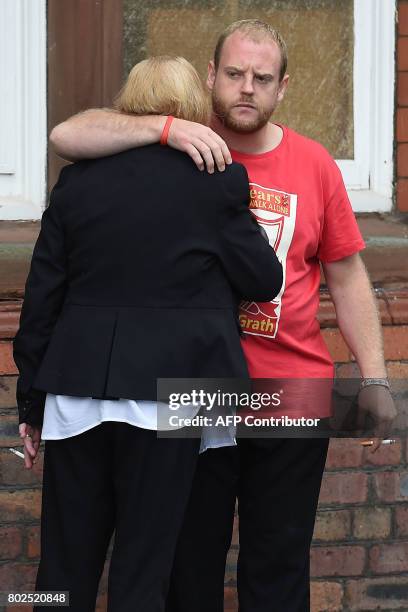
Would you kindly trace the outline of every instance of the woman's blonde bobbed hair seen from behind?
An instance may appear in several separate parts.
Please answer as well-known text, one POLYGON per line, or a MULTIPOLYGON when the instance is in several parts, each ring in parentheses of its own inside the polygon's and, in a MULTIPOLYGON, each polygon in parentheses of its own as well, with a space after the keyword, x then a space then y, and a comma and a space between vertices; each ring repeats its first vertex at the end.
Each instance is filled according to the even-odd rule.
POLYGON ((196 69, 184 57, 157 55, 129 73, 114 106, 135 115, 173 115, 207 123, 209 103, 196 69))

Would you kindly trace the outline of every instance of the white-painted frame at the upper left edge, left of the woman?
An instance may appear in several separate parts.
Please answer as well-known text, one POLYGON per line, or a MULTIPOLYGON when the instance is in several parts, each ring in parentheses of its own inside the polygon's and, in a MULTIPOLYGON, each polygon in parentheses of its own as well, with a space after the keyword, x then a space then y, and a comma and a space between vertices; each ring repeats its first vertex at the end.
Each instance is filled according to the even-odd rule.
POLYGON ((38 219, 46 178, 45 0, 2 0, 0 219, 38 219))

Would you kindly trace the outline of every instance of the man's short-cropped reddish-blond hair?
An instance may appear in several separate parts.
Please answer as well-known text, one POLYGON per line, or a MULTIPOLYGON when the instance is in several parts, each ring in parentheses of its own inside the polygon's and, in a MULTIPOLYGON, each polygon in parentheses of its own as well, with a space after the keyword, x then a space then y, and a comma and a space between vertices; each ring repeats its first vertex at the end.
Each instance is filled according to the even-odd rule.
POLYGON ((222 48, 226 39, 234 32, 241 32, 244 36, 247 36, 256 42, 264 40, 265 38, 269 38, 270 40, 276 42, 281 52, 281 67, 279 73, 279 81, 281 81, 285 76, 288 67, 288 51, 286 48, 286 43, 275 28, 269 25, 269 23, 265 23, 265 21, 261 21, 260 19, 242 19, 241 21, 234 21, 234 23, 231 23, 231 25, 221 32, 214 51, 215 69, 218 69, 222 48))

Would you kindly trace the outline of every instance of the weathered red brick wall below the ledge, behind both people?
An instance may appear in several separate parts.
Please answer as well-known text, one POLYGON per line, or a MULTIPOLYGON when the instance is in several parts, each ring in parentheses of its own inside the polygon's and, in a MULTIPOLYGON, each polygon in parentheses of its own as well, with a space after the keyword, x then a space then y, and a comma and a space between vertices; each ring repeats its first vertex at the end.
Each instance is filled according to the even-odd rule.
MULTIPOLYGON (((390 376, 408 379, 408 296, 382 288, 377 295, 390 376)), ((11 338, 19 302, 3 303, 0 319, 0 584, 33 588, 39 556, 42 453, 32 472, 12 455, 16 436, 15 366, 11 338)), ((321 293, 320 323, 339 376, 356 364, 336 327, 333 305, 321 293)), ((237 530, 226 575, 226 610, 237 610, 237 530)), ((105 565, 98 612, 106 610, 105 565)), ((312 612, 408 609, 408 441, 375 455, 353 440, 330 443, 311 553, 312 612)), ((27 608, 25 608, 26 610, 27 608)), ((18 611, 18 608, 10 608, 18 611)), ((22 609, 23 610, 23 609, 22 609)), ((2 611, 1 611, 2 612, 2 611)))

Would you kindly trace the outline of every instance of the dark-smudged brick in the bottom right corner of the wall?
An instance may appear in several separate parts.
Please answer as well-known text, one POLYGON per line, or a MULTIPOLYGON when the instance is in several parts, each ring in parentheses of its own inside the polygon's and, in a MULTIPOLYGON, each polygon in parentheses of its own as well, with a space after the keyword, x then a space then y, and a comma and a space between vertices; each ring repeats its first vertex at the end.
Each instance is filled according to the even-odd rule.
POLYGON ((407 610, 407 579, 397 576, 361 578, 346 582, 345 608, 361 610, 407 610))

